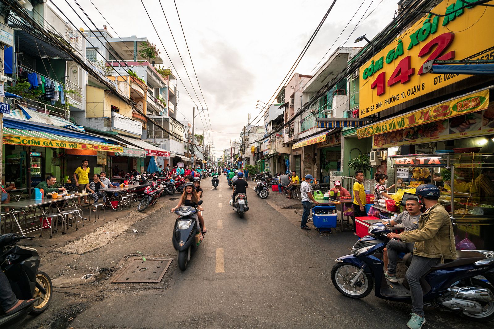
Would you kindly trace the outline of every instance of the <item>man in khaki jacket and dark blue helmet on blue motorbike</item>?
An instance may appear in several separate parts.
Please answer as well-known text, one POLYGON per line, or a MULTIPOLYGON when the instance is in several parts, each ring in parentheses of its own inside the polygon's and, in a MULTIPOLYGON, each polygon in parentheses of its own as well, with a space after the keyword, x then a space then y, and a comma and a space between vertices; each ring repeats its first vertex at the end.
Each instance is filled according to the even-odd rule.
MULTIPOLYGON (((444 259, 456 259, 453 225, 450 216, 438 202, 440 190, 434 184, 421 184, 415 194, 425 207, 420 216, 418 229, 400 234, 389 233, 389 239, 399 239, 405 243, 414 242, 412 263, 405 274, 412 296, 412 318, 407 323, 411 329, 420 329, 425 323, 423 292, 420 278, 444 259)), ((388 255, 389 256, 389 255, 388 255)))

